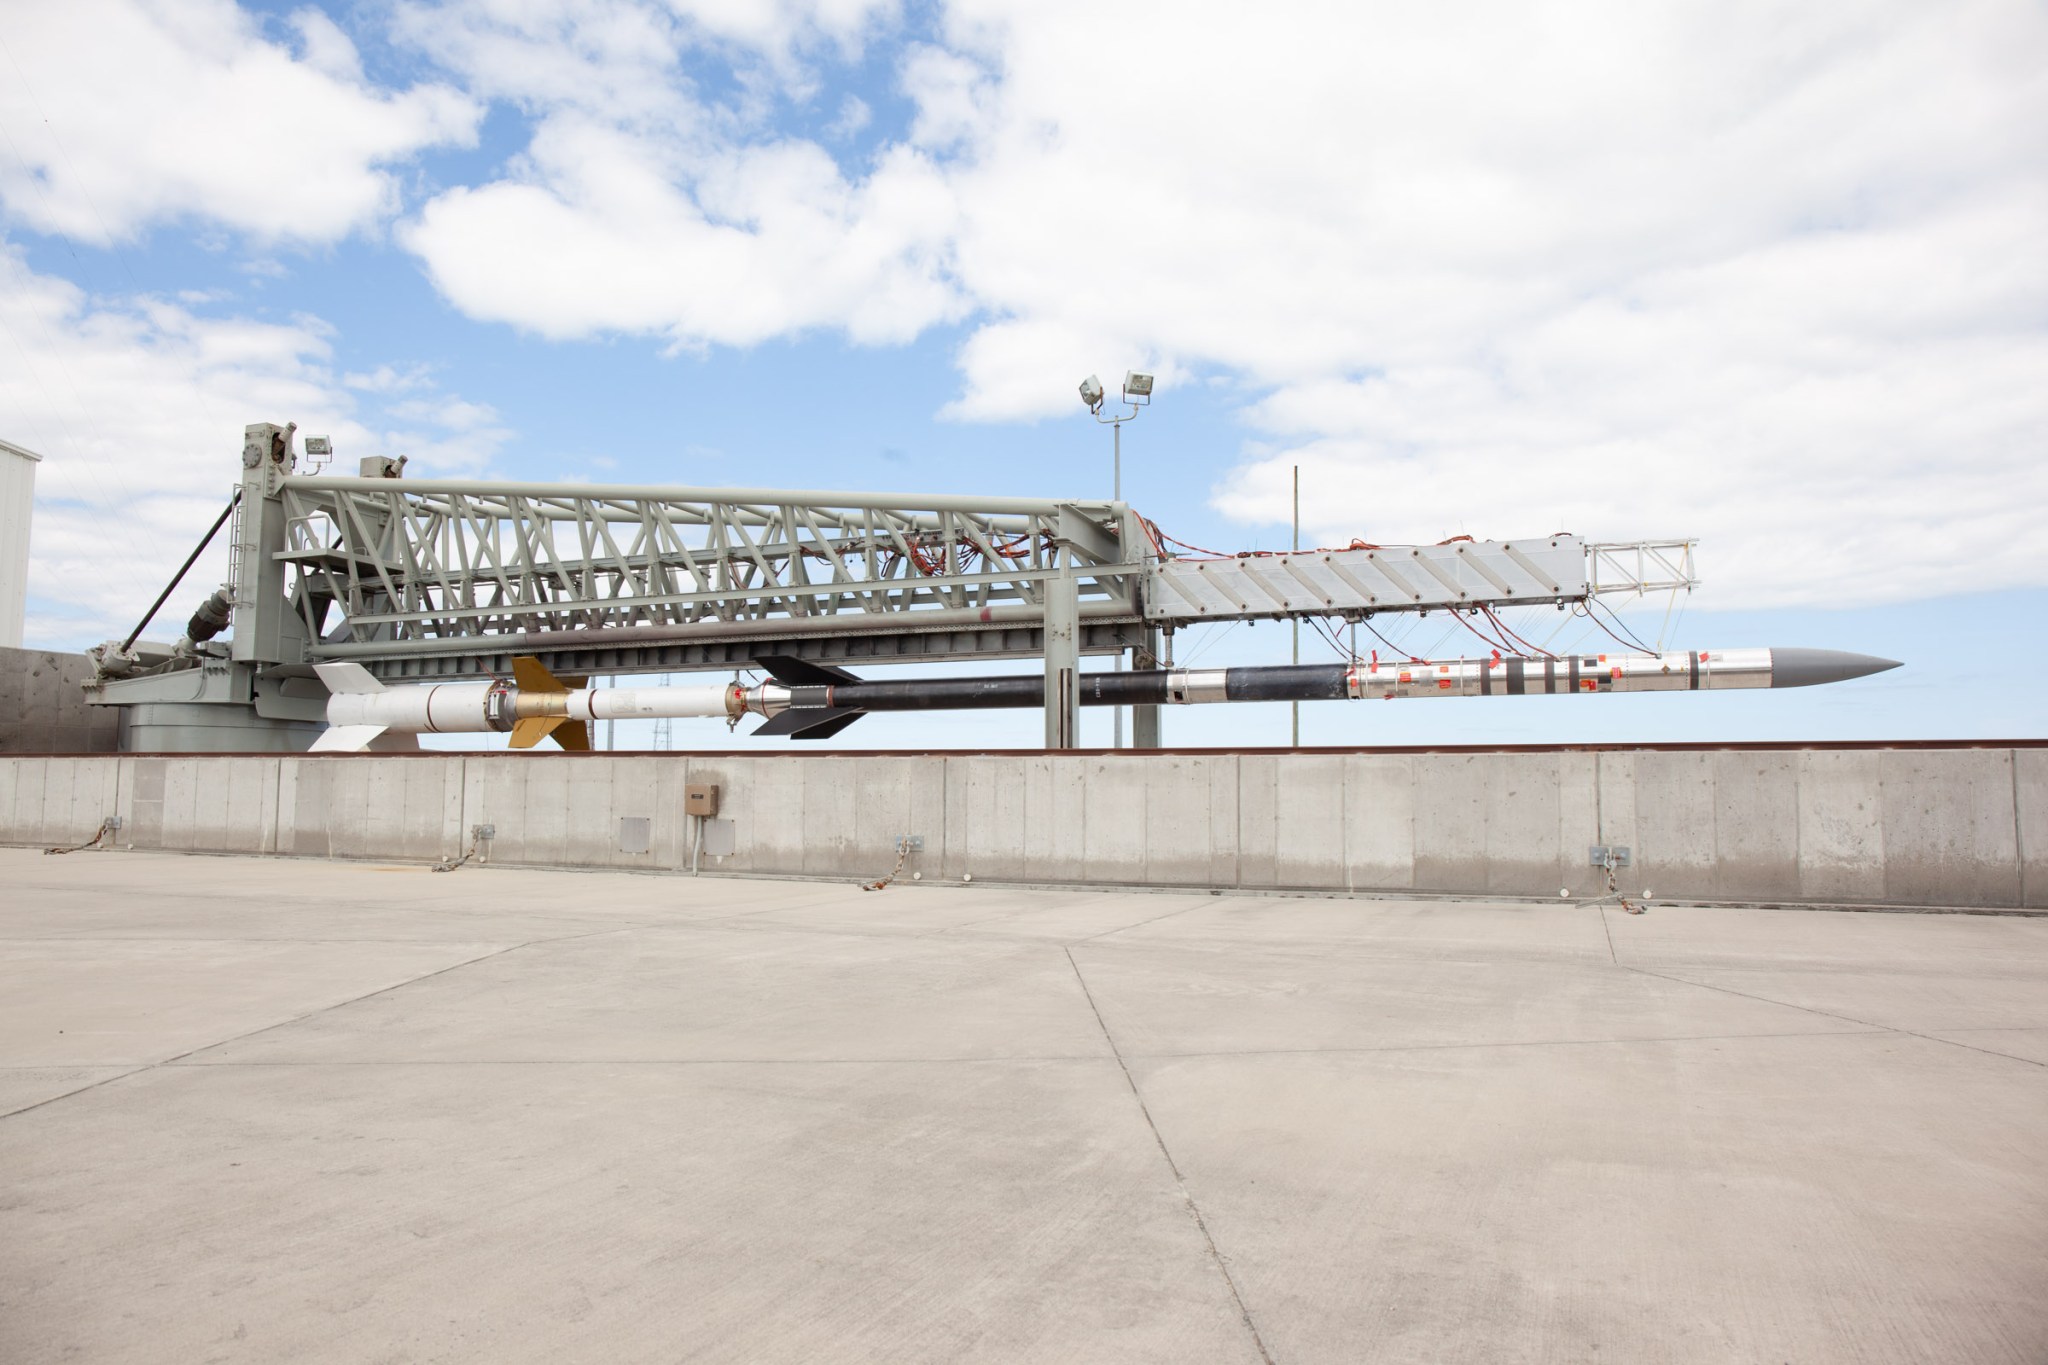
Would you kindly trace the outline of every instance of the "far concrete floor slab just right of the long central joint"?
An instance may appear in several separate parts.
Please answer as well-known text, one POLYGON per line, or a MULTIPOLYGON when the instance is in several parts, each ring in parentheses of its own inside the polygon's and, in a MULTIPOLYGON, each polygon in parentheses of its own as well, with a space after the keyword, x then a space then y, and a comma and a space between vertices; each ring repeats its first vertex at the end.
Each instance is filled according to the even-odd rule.
POLYGON ((1843 1023, 1612 964, 1096 939, 1073 950, 1126 1056, 1833 1033, 1843 1023))

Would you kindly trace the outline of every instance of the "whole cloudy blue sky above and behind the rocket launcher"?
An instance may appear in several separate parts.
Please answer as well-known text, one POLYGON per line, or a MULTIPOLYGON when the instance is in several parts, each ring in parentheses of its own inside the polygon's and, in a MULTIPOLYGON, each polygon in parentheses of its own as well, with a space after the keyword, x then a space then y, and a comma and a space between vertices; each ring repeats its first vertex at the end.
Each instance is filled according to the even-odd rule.
POLYGON ((1671 645, 1909 665, 1309 743, 2042 735, 2048 20, 1825 8, 27 0, 31 643, 131 624, 254 420, 418 475, 1100 495, 1073 385, 1139 366, 1126 495, 1184 540, 1284 544, 1300 465, 1311 542, 1692 534, 1671 645))

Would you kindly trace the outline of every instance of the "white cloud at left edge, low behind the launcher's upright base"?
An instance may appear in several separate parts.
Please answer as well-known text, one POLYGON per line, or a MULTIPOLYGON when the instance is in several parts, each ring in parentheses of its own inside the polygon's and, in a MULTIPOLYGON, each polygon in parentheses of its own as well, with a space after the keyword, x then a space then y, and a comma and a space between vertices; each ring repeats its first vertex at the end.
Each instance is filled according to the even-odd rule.
MULTIPOLYGON (((250 422, 330 434, 344 467, 410 454, 416 475, 475 473, 506 440, 489 409, 457 397, 362 411, 330 354, 317 319, 88 299, 0 239, 0 436, 43 454, 33 643, 82 647, 135 624, 227 501, 250 422)), ((223 573, 217 544, 164 606, 164 639, 223 573)))

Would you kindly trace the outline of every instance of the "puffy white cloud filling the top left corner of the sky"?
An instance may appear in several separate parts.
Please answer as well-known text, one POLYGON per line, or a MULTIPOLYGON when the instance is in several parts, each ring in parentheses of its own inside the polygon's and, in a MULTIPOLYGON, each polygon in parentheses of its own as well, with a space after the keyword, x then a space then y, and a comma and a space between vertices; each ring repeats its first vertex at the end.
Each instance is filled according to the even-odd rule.
POLYGON ((334 241, 397 207, 389 166, 475 139, 467 96, 365 84, 354 45, 317 10, 291 29, 301 57, 229 0, 8 4, 6 213, 98 244, 180 217, 334 241))

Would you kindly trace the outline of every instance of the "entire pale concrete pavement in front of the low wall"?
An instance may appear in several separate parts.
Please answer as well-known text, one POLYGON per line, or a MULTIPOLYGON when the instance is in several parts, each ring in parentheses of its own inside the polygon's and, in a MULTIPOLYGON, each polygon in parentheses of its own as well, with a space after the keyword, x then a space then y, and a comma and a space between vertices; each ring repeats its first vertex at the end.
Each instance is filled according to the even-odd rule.
POLYGON ((2032 921, 0 876, 4 1361, 2048 1359, 2032 921))

